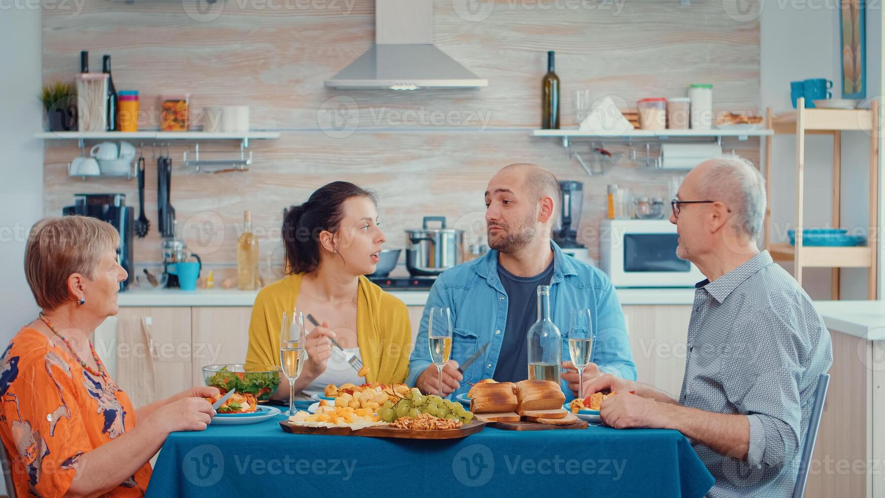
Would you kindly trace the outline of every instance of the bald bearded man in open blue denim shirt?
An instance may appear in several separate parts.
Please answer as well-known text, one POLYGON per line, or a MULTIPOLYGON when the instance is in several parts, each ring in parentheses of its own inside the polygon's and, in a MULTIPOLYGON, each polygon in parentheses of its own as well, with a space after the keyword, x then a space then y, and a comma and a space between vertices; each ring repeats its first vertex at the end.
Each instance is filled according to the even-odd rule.
MULTIPOLYGON (((447 396, 466 393, 481 379, 527 379, 526 334, 537 319, 538 286, 550 286, 550 315, 562 334, 563 359, 569 357, 569 311, 590 310, 596 341, 593 363, 584 370, 585 386, 604 372, 636 378, 624 316, 608 277, 563 255, 550 241, 560 202, 556 177, 538 165, 508 165, 489 181, 485 203, 491 250, 436 279, 412 350, 410 385, 447 396), (434 307, 449 308, 454 320, 451 360, 443 367, 442 386, 427 347, 434 307), (458 366, 486 344, 489 348, 481 358, 459 372, 458 366)), ((578 395, 578 372, 571 362, 560 366, 562 389, 571 399, 578 395)))

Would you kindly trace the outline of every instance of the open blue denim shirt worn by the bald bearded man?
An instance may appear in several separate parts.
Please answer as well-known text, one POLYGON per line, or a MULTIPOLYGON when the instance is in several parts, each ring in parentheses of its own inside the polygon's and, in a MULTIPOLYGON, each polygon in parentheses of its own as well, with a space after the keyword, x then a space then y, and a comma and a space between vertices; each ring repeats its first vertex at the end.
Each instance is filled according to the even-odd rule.
MULTIPOLYGON (((599 365, 603 372, 635 380, 636 365, 612 282, 593 266, 564 255, 555 242, 551 241, 550 247, 553 249, 550 318, 562 334, 563 361, 571 359, 568 353, 569 311, 589 309, 596 333, 591 361, 599 365)), ((458 364, 464 364, 483 344, 489 344, 484 357, 478 358, 464 372, 461 386, 453 395, 466 393, 470 383, 490 379, 495 373, 507 323, 508 299, 498 279, 497 264, 498 251, 492 249, 484 257, 458 264, 436 278, 430 288, 412 349, 409 377, 406 379, 410 386, 415 385, 419 374, 431 364, 430 351, 427 349, 427 321, 433 307, 448 307, 451 310, 454 330, 450 357, 458 364)), ((562 381, 562 390, 566 399, 572 399, 572 391, 565 380, 562 381)))

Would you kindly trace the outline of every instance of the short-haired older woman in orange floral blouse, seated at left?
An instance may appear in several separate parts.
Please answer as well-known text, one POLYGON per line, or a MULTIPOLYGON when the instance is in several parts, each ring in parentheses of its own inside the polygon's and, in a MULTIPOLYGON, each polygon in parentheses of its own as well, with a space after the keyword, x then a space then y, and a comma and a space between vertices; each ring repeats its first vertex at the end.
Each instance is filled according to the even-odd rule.
POLYGON ((28 236, 27 283, 40 316, 0 357, 0 439, 16 494, 142 495, 148 460, 173 431, 200 431, 214 414, 196 387, 135 410, 89 335, 117 314, 119 234, 95 218, 45 218, 28 236), (136 424, 137 422, 137 424, 136 424))

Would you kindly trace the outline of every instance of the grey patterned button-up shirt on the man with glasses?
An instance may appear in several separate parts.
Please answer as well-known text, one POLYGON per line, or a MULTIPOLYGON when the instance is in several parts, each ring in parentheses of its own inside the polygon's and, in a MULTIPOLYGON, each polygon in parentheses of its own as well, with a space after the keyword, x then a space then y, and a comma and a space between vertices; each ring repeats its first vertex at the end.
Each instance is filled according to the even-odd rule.
POLYGON ((762 251, 696 285, 686 347, 680 404, 750 421, 746 462, 693 442, 716 478, 708 496, 791 495, 818 376, 833 363, 811 298, 762 251))

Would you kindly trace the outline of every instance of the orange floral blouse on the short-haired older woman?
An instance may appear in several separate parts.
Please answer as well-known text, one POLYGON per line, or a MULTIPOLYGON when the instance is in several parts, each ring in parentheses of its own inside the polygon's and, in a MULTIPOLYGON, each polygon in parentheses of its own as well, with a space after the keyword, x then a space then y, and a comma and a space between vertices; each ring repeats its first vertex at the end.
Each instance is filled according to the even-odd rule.
MULTIPOLYGON (((24 327, 0 356, 0 439, 19 496, 61 496, 78 458, 135 427, 135 408, 109 375, 84 369, 60 339, 24 327)), ((141 496, 150 464, 114 488, 141 496)))

